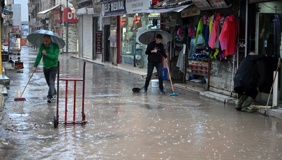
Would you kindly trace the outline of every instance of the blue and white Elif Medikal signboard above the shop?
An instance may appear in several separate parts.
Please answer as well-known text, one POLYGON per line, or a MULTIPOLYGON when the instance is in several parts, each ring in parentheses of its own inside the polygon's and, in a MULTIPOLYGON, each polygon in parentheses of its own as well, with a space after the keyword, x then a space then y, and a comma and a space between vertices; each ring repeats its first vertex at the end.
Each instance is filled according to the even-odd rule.
POLYGON ((111 0, 101 2, 101 16, 142 13, 150 8, 149 0, 111 0))

